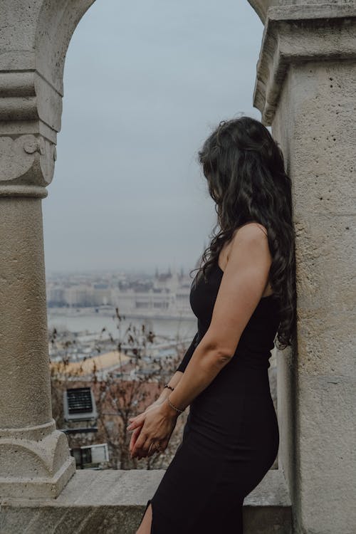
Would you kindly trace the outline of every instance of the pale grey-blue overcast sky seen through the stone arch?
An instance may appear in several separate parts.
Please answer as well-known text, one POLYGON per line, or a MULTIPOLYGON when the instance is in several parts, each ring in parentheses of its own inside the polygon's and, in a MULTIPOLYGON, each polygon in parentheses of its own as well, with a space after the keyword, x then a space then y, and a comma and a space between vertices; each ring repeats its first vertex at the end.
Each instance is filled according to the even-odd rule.
POLYGON ((197 150, 253 108, 246 0, 97 0, 75 30, 43 200, 46 270, 194 267, 216 222, 197 150))

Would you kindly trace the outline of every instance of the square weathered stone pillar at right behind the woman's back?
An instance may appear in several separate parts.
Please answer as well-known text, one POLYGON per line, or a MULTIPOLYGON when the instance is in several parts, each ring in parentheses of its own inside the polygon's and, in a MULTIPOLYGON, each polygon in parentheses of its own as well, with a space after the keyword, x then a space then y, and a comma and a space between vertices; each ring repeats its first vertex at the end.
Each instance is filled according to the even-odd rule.
POLYGON ((298 324, 295 346, 278 355, 279 463, 294 533, 351 534, 356 4, 250 3, 265 23, 254 105, 293 180, 298 324))

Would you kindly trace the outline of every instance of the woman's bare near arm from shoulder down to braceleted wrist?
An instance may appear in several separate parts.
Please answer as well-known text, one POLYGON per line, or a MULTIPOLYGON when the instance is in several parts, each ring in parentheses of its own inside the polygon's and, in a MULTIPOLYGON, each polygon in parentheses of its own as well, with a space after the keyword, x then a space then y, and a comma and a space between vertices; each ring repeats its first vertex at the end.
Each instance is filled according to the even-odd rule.
MULTIPOLYGON (((175 407, 185 409, 234 355, 266 288, 270 267, 267 236, 256 224, 241 227, 231 244, 209 329, 194 350, 174 392, 168 390, 167 397, 175 407)), ((168 403, 163 406, 167 413, 175 411, 168 403)))

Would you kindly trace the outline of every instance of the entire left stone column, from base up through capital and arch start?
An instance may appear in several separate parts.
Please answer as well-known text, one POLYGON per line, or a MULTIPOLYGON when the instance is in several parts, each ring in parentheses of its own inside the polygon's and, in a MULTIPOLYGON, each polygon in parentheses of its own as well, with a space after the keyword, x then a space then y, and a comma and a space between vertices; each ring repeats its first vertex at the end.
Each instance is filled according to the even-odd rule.
POLYGON ((66 50, 92 3, 1 1, 0 497, 56 497, 75 472, 51 413, 41 199, 53 177, 66 50))

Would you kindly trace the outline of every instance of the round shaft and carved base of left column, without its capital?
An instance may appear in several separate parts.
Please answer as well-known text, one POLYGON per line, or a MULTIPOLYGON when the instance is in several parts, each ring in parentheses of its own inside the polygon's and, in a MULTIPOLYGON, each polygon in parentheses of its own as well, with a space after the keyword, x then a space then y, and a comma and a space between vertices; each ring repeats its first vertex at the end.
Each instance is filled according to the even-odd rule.
POLYGON ((0 217, 0 496, 56 497, 75 463, 51 412, 41 200, 0 197, 0 217))

